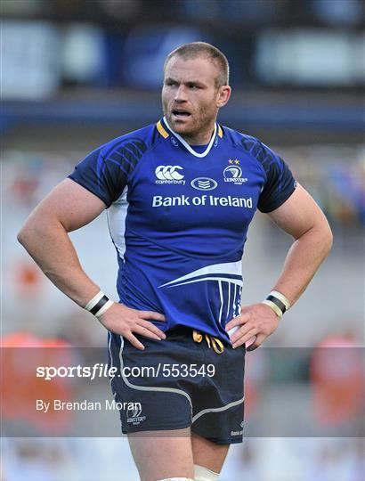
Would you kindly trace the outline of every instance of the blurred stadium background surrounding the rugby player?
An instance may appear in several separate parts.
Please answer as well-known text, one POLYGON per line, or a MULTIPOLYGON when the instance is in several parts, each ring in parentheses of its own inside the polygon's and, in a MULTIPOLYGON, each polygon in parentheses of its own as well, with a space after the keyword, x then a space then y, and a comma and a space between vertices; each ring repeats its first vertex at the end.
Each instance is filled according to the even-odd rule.
MULTIPOLYGON (((328 371, 312 372, 316 346, 364 346, 361 0, 2 0, 0 13, 3 340, 23 332, 104 346, 105 331, 43 277, 16 233, 88 151, 159 118, 166 53, 194 40, 213 43, 231 62, 233 96, 220 122, 279 151, 335 234, 320 273, 268 348, 248 355, 247 429, 263 419, 270 424, 273 408, 282 426, 296 423, 328 372, 332 388, 342 387, 327 387, 329 414, 319 415, 315 436, 301 436, 299 429, 297 436, 280 436, 280 428, 255 436, 252 429, 231 449, 220 479, 363 480, 358 372, 354 365, 342 369, 342 351, 335 374, 332 363, 328 371), (288 361, 286 349, 293 347, 297 358, 288 361), (331 416, 335 404, 339 411, 331 416)), ((117 263, 104 216, 72 240, 87 273, 116 296, 117 263)), ((271 289, 289 242, 257 214, 244 257, 244 303, 271 289)), ((39 437, 2 439, 1 481, 137 479, 126 438, 42 434, 48 436, 40 430, 39 437)))

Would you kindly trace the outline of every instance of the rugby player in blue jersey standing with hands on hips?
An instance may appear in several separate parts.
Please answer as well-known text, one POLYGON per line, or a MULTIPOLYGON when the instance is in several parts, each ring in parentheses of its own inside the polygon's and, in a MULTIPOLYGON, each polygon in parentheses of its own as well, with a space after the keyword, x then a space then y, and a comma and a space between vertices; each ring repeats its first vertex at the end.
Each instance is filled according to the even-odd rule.
POLYGON ((164 117, 88 154, 19 233, 49 279, 108 330, 111 366, 177 370, 111 379, 116 400, 142 406, 120 412, 142 481, 218 479, 230 444, 242 441, 246 345, 261 346, 277 329, 332 243, 287 164, 216 122, 230 95, 222 52, 203 42, 175 49, 164 68, 164 117), (104 209, 118 302, 87 276, 68 236, 104 209), (293 244, 272 292, 241 308, 241 258, 256 209, 293 244), (191 369, 208 365, 214 376, 191 369))

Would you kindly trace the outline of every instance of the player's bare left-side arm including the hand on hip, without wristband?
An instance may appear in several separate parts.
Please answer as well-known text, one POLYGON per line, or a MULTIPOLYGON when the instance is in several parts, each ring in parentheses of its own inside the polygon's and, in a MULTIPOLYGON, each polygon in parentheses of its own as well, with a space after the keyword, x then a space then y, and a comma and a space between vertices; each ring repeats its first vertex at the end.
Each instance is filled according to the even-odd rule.
MULTIPOLYGON (((100 288, 84 272, 68 232, 89 224, 105 207, 93 193, 66 179, 37 206, 18 234, 20 244, 53 284, 83 307, 100 288)), ((124 336, 138 349, 143 345, 134 333, 154 339, 166 337, 147 319, 165 321, 165 316, 114 303, 100 317, 106 329, 124 336)))

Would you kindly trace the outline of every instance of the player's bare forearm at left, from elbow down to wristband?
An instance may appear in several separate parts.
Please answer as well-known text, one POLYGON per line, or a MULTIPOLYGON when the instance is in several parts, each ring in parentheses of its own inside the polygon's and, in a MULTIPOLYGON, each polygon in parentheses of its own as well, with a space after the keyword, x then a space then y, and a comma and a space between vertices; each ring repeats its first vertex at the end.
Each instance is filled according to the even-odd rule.
POLYGON ((100 290, 84 272, 68 233, 57 220, 26 224, 18 240, 50 281, 79 306, 84 307, 100 290))

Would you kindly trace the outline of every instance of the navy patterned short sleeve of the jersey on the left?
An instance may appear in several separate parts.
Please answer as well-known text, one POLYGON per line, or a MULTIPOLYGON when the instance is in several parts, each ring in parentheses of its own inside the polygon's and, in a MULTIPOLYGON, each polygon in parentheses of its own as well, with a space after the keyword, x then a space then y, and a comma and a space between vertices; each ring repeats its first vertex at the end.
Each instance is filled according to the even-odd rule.
POLYGON ((69 178, 93 192, 107 206, 118 200, 145 145, 139 139, 106 144, 88 154, 69 178))

